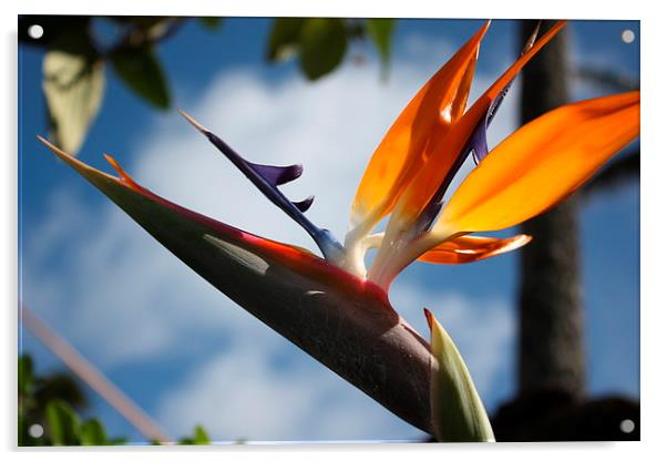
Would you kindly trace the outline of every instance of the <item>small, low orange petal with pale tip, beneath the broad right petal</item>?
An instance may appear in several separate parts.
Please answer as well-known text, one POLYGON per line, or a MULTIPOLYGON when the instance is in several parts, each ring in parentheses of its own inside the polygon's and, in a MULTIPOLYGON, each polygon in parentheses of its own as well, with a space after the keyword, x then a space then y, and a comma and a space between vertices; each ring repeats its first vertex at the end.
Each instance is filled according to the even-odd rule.
POLYGON ((434 264, 463 264, 482 260, 521 248, 532 237, 519 234, 510 238, 463 236, 447 240, 428 250, 419 260, 434 264))

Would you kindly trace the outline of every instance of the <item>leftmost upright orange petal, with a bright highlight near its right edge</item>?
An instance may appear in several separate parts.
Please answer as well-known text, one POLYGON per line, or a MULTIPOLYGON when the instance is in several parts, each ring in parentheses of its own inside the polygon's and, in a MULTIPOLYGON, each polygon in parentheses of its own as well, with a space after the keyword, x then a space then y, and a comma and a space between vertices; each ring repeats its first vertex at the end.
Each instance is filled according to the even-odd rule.
POLYGON ((414 95, 391 125, 372 158, 352 204, 351 223, 372 227, 387 215, 424 162, 433 132, 447 130, 465 109, 484 24, 414 95))

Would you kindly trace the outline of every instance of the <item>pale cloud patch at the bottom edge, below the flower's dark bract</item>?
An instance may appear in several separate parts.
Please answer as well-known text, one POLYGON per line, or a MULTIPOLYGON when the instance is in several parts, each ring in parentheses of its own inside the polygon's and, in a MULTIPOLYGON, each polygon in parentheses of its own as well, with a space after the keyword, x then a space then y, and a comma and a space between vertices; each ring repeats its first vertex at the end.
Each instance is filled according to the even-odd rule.
POLYGON ((173 433, 203 424, 214 440, 397 440, 425 436, 311 359, 271 363, 270 348, 234 345, 166 392, 173 433))

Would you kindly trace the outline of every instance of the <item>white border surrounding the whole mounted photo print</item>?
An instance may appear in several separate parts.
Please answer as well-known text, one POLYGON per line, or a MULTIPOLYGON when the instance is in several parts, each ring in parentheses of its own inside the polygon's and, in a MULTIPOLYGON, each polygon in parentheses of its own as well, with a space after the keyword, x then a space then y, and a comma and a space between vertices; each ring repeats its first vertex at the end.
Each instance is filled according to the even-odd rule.
MULTIPOLYGON (((17 2, 18 3, 18 2, 17 2)), ((127 458, 181 460, 184 452, 196 451, 208 459, 255 458, 270 454, 275 459, 311 459, 317 452, 318 459, 338 459, 341 454, 368 457, 370 451, 379 452, 384 459, 404 460, 407 455, 418 453, 429 457, 499 457, 512 460, 530 459, 540 455, 543 460, 557 459, 571 454, 589 453, 603 455, 605 459, 627 460, 638 451, 643 454, 664 452, 663 431, 665 428, 663 412, 665 381, 664 350, 665 301, 659 287, 665 284, 667 272, 661 262, 667 260, 665 245, 660 232, 665 229, 665 193, 666 181, 664 147, 657 145, 665 129, 665 92, 660 80, 664 80, 664 43, 665 24, 663 16, 653 10, 648 1, 605 1, 584 2, 581 0, 558 0, 541 3, 538 8, 520 0, 486 1, 474 0, 455 2, 409 0, 361 2, 359 0, 314 1, 314 0, 161 0, 160 2, 137 2, 136 0, 114 0, 113 2, 84 2, 60 0, 25 1, 20 4, 3 3, 0 21, 3 25, 4 43, 0 73, 1 101, 4 102, 1 114, 6 119, 0 125, 6 152, 2 158, 2 211, 4 225, 0 226, 0 254, 3 255, 3 274, 0 277, 0 293, 7 296, 4 303, 6 354, 2 354, 2 368, 8 373, 2 383, 2 396, 7 399, 0 418, 0 437, 2 448, 9 451, 9 459, 14 457, 43 459, 50 454, 60 459, 89 459, 90 452, 95 458, 117 459, 123 453, 127 458), (18 13, 91 13, 91 14, 177 14, 177 16, 342 16, 342 17, 444 17, 444 18, 571 18, 571 19, 638 19, 642 21, 642 440, 640 443, 512 443, 493 447, 469 445, 252 445, 252 447, 208 447, 208 448, 123 448, 115 450, 33 450, 17 452, 16 445, 16 358, 17 358, 17 14, 18 13), (7 257, 6 255, 11 255, 7 257), (13 450, 13 451, 12 451, 13 450), (630 454, 633 452, 633 454, 630 454)), ((655 2, 654 4, 658 4, 655 2)), ((630 245, 633 243, 629 243, 630 245)))

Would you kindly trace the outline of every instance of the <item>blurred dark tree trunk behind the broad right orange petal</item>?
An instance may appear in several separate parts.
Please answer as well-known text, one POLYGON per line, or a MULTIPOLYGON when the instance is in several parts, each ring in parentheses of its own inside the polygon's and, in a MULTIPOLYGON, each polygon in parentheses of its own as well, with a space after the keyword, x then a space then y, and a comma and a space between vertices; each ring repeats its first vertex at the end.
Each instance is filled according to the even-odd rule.
MULTIPOLYGON (((536 25, 522 21, 520 43, 536 25)), ((553 23, 545 21, 542 29, 553 23)), ((521 124, 569 101, 567 30, 526 65, 521 84, 521 124)), ((558 172, 553 172, 557 175, 558 172)), ((585 389, 579 281, 578 194, 523 225, 533 242, 520 268, 519 392, 585 389)))

